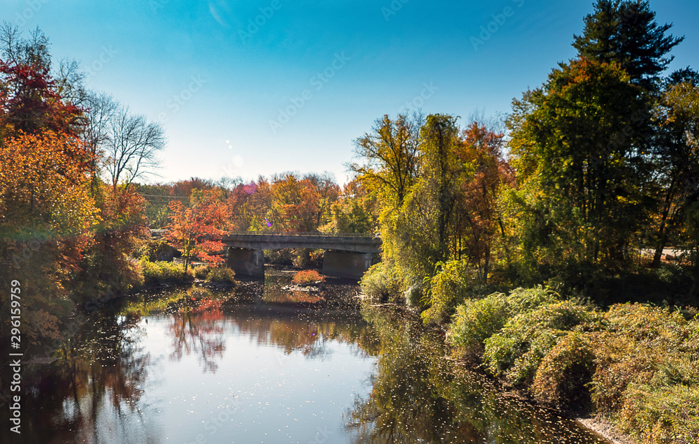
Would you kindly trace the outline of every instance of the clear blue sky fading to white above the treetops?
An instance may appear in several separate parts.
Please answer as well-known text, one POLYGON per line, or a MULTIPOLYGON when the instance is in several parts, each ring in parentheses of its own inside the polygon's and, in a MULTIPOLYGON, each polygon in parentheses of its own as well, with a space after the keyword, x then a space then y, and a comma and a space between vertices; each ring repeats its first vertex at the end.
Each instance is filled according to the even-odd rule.
MULTIPOLYGON (((696 0, 651 1, 699 69, 696 0)), ((592 0, 2 0, 25 36, 80 61, 87 86, 162 121, 160 181, 332 172, 405 108, 510 111, 575 56, 592 0)))

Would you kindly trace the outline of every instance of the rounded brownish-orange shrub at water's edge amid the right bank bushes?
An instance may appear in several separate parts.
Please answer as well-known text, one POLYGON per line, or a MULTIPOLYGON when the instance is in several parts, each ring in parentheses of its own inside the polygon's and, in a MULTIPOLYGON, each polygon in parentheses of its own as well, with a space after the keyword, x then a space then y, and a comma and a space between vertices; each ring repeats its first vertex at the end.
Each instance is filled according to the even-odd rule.
POLYGON ((533 395, 556 408, 587 408, 590 394, 586 384, 594 371, 595 354, 589 338, 581 332, 569 332, 542 360, 534 377, 533 395))

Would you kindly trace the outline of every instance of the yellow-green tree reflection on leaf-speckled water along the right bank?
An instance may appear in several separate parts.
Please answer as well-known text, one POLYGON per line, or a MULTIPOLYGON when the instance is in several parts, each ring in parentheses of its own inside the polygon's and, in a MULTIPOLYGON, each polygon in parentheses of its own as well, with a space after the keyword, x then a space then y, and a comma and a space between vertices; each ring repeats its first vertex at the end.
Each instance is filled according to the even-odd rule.
POLYGON ((355 443, 606 443, 445 358, 440 334, 400 311, 366 306, 380 340, 368 399, 347 414, 355 443))

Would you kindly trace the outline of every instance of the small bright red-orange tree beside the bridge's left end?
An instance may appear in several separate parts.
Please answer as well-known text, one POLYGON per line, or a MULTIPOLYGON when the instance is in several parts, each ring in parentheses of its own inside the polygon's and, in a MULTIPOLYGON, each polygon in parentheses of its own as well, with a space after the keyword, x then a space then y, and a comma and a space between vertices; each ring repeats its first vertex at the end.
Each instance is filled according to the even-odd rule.
POLYGON ((171 222, 166 226, 164 239, 185 258, 185 272, 193 258, 215 264, 222 262, 220 256, 210 253, 224 248, 221 237, 224 234, 223 205, 217 191, 196 193, 192 206, 187 208, 179 200, 170 202, 171 222))

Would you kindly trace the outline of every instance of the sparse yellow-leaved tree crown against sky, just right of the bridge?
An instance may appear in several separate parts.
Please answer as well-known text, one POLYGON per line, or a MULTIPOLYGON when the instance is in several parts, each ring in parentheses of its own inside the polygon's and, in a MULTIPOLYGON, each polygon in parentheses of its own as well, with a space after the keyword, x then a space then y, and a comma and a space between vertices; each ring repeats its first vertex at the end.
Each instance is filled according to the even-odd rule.
POLYGON ((359 181, 383 189, 396 208, 403 205, 417 176, 421 120, 421 116, 408 119, 401 114, 392 121, 384 115, 375 121, 373 133, 354 140, 354 154, 364 163, 352 163, 347 168, 359 181))

